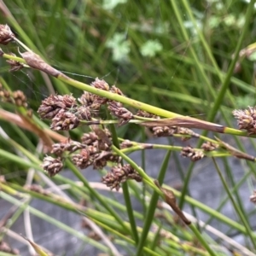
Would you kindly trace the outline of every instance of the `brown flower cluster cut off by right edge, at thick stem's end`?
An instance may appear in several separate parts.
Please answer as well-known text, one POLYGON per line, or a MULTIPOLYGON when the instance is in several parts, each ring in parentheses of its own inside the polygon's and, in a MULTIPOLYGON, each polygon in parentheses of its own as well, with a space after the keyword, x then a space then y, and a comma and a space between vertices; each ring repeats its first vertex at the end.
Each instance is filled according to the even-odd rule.
POLYGON ((240 130, 246 130, 249 135, 256 134, 256 107, 234 110, 233 115, 238 120, 240 130))

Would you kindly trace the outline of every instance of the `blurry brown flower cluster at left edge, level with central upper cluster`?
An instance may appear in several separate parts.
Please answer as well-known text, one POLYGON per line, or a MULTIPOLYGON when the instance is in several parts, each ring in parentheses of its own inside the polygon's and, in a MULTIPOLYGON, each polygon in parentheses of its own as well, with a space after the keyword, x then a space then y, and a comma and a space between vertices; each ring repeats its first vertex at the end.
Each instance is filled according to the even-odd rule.
POLYGON ((21 90, 4 90, 0 84, 0 100, 15 104, 17 107, 27 108, 26 96, 21 90))

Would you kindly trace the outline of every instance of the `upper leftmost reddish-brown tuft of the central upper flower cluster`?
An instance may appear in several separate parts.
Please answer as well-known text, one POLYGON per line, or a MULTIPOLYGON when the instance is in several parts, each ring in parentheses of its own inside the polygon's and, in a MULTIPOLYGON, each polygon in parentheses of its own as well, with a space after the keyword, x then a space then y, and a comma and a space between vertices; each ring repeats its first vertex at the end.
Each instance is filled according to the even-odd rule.
POLYGON ((67 110, 76 108, 77 102, 71 95, 51 95, 44 99, 41 106, 38 108, 38 114, 41 119, 53 119, 61 109, 67 110))

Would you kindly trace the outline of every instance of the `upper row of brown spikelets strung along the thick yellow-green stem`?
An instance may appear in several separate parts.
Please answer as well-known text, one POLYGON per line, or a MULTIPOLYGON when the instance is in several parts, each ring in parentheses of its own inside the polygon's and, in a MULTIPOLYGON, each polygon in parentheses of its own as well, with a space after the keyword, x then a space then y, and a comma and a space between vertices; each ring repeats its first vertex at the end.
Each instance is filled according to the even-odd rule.
MULTIPOLYGON (((96 79, 91 83, 96 89, 106 90, 113 94, 124 96, 123 92, 115 85, 109 86, 104 80, 96 79)), ((83 95, 76 100, 73 96, 51 95, 44 99, 38 108, 41 119, 51 119, 50 129, 53 131, 68 131, 79 125, 101 124, 98 118, 102 105, 107 105, 109 112, 118 119, 118 125, 125 125, 131 119, 137 117, 145 119, 160 119, 159 116, 138 110, 136 114, 131 113, 121 102, 108 100, 105 97, 94 95, 84 91, 83 95), (84 122, 85 121, 85 122, 84 122)), ((199 137, 194 131, 178 126, 158 126, 152 128, 156 137, 170 137, 174 134, 182 135, 183 140, 190 137, 199 137)))

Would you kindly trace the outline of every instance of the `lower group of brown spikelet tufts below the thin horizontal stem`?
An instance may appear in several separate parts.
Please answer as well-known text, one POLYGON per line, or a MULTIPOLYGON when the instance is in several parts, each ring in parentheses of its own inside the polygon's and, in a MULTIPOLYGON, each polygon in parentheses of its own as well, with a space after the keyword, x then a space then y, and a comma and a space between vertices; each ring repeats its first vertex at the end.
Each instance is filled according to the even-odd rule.
POLYGON ((124 183, 127 179, 142 181, 142 177, 130 165, 121 166, 119 155, 111 151, 111 134, 107 129, 84 133, 81 143, 71 140, 55 143, 51 153, 57 157, 46 156, 42 164, 44 171, 48 172, 50 177, 61 172, 66 153, 71 156, 73 164, 82 169, 93 166, 94 169, 100 170, 107 165, 108 161, 116 163, 111 172, 102 177, 102 183, 111 189, 118 190, 120 183, 124 183))

